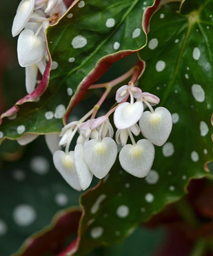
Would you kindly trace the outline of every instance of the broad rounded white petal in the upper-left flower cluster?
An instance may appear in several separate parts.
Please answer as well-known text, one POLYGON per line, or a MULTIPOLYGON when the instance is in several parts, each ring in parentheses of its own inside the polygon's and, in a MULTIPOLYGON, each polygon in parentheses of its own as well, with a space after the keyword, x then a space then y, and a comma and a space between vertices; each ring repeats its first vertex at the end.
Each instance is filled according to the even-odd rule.
POLYGON ((30 29, 24 29, 18 38, 17 53, 21 67, 27 67, 40 61, 45 50, 45 43, 40 36, 30 29))

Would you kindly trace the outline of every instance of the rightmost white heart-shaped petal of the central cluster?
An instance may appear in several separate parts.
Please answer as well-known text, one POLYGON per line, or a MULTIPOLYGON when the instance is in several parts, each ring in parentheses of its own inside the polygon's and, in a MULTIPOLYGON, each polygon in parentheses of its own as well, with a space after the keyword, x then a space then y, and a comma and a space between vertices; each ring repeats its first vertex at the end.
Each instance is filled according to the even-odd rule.
POLYGON ((154 113, 145 111, 139 125, 145 138, 157 146, 162 146, 172 130, 172 116, 166 108, 156 108, 154 113))

